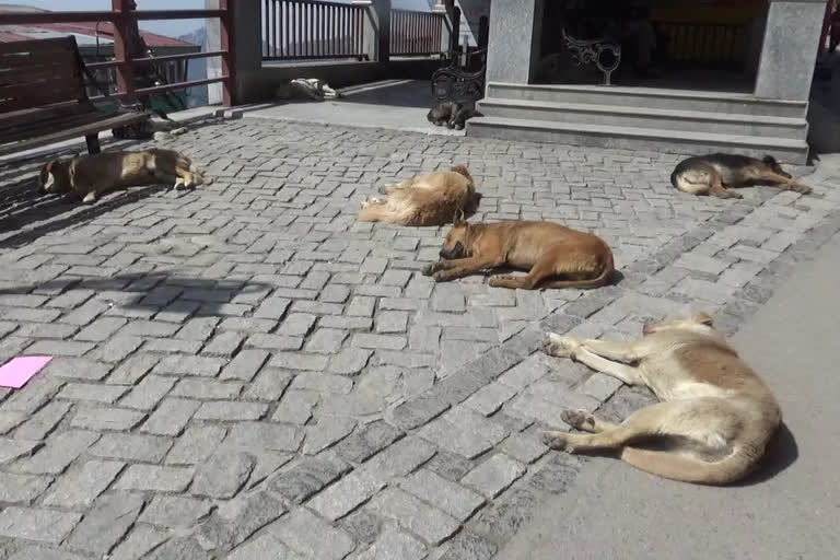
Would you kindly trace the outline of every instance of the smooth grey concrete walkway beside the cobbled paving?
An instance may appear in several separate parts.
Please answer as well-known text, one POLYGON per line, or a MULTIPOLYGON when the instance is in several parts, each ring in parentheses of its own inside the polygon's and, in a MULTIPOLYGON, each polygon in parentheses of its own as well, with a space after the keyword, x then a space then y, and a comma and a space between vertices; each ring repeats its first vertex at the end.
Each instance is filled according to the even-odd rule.
POLYGON ((790 429, 768 469, 718 489, 593 459, 580 483, 542 508, 499 558, 836 558, 840 236, 804 268, 733 339, 775 390, 790 429))

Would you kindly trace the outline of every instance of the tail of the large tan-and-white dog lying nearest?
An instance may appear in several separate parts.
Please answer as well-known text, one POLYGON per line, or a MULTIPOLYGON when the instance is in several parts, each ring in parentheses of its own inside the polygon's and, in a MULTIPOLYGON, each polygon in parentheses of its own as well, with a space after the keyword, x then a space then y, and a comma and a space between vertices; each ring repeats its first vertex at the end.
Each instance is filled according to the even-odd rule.
POLYGON ((622 447, 620 458, 640 470, 672 480, 698 485, 726 485, 746 476, 755 457, 736 448, 726 458, 707 462, 698 457, 666 451, 622 447))

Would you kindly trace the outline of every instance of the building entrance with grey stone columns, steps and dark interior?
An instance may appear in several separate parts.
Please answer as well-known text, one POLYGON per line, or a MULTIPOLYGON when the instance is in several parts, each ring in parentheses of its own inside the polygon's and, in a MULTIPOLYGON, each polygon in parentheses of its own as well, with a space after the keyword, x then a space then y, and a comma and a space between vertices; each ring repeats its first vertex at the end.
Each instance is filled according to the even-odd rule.
POLYGON ((807 156, 826 0, 457 4, 467 22, 490 15, 485 117, 470 136, 807 156))

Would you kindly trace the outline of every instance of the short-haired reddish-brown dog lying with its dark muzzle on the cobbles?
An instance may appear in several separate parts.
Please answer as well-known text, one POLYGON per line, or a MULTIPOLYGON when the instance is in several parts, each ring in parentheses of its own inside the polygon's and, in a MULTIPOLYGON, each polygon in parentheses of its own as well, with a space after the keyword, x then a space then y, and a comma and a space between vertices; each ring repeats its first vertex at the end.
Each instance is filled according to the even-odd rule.
POLYGON ((439 282, 491 268, 530 269, 527 276, 490 279, 493 287, 524 290, 598 288, 615 271, 612 252, 604 240, 551 222, 470 224, 460 215, 446 236, 441 258, 423 269, 439 282))

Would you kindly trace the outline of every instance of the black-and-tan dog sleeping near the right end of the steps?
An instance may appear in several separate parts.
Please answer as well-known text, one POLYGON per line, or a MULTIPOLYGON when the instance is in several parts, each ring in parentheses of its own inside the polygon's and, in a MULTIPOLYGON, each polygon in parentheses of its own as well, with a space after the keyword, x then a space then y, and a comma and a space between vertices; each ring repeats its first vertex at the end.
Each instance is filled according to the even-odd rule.
POLYGON ((763 160, 728 153, 689 158, 679 162, 670 174, 670 184, 682 192, 718 198, 744 198, 728 188, 752 185, 773 185, 803 195, 810 192, 810 187, 792 178, 771 155, 763 160))

